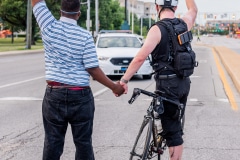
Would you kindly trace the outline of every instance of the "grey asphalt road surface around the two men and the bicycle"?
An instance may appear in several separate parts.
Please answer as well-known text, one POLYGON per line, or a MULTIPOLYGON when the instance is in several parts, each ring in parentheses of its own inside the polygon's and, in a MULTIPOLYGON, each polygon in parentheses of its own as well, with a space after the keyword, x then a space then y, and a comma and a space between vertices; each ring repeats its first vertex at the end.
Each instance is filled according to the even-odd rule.
MULTIPOLYGON (((201 37, 203 39, 212 45, 224 43, 225 38, 201 37)), ((191 76, 183 160, 239 160, 239 93, 223 69, 237 104, 237 108, 233 108, 214 54, 201 44, 202 41, 193 42, 199 67, 191 76)), ((235 43, 228 46, 239 51, 235 43)), ((45 88, 43 54, 0 56, 0 68, 0 160, 40 160, 44 139, 41 119, 45 88)), ((96 81, 91 81, 91 86, 96 104, 95 159, 127 160, 151 99, 141 95, 132 105, 127 101, 135 87, 153 91, 154 80, 135 77, 129 83, 129 94, 119 98, 96 81)), ((74 152, 69 128, 61 160, 74 159, 74 152)))

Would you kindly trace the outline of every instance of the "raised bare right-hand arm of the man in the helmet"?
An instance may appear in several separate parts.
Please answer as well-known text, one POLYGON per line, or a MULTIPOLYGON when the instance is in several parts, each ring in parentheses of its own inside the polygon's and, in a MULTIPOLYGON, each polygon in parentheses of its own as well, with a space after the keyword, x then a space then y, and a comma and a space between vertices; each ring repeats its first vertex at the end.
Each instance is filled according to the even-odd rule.
POLYGON ((197 17, 198 8, 194 0, 186 0, 186 5, 188 11, 182 19, 187 23, 188 30, 191 30, 197 17))

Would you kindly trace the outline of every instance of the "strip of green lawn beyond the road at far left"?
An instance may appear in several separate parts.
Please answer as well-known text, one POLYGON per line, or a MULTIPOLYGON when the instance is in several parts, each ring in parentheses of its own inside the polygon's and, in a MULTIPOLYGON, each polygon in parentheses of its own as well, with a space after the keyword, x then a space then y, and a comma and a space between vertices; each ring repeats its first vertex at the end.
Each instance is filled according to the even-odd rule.
MULTIPOLYGON (((14 38, 14 42, 12 44, 11 38, 0 38, 0 52, 4 51, 16 51, 16 50, 25 50, 26 42, 25 38, 14 38)), ((42 49, 42 41, 38 40, 36 45, 31 45, 31 49, 42 49)))

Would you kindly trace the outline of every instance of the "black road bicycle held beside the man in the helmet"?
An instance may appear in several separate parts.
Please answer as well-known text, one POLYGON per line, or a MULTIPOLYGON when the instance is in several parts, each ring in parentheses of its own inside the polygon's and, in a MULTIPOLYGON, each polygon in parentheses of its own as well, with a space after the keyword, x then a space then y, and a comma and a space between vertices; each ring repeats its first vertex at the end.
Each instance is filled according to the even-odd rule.
POLYGON ((159 114, 164 112, 163 101, 168 101, 176 105, 177 112, 175 116, 178 116, 176 118, 181 121, 182 128, 184 127, 184 116, 182 116, 184 105, 163 97, 164 93, 161 91, 157 90, 152 93, 139 88, 134 88, 132 97, 128 103, 132 104, 141 93, 153 99, 147 109, 147 114, 144 115, 140 130, 130 152, 129 160, 149 160, 154 158, 161 160, 162 154, 167 149, 166 139, 162 136, 163 130, 159 116, 159 114))

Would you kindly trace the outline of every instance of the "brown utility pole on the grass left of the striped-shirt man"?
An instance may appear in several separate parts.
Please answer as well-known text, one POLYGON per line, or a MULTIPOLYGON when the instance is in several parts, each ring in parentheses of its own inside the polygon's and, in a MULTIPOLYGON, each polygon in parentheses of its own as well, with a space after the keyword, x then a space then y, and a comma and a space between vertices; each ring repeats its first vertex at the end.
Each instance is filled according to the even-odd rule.
POLYGON ((32 42, 32 5, 31 0, 28 0, 27 6, 27 33, 26 33, 26 49, 31 49, 32 42))

